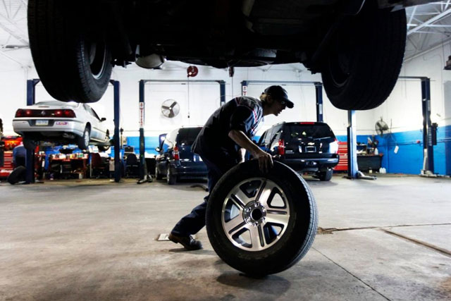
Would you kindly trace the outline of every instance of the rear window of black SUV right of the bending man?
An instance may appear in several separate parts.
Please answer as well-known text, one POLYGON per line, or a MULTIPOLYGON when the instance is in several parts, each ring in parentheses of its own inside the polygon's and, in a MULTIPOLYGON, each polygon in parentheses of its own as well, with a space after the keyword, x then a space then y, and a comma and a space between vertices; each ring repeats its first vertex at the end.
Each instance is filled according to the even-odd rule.
POLYGON ((292 123, 285 125, 285 141, 297 142, 303 138, 314 140, 325 139, 326 141, 334 141, 335 135, 326 124, 299 124, 292 123))

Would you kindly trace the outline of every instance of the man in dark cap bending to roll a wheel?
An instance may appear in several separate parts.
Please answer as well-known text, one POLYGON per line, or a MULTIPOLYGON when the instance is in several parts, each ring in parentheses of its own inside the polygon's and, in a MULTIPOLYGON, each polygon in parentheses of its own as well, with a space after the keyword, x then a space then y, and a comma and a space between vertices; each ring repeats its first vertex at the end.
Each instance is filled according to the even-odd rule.
MULTIPOLYGON (((192 145, 192 152, 199 154, 206 164, 209 195, 224 173, 245 161, 246 150, 259 161, 262 172, 266 173, 272 168, 271 155, 261 150, 251 139, 257 133, 264 116, 278 116, 285 107, 291 109, 293 106, 283 87, 271 86, 264 90, 260 100, 246 96, 236 97, 210 116, 192 145)), ((205 226, 209 195, 190 214, 180 219, 171 231, 169 240, 180 243, 187 250, 202 249, 202 243, 194 240, 191 235, 205 226)))

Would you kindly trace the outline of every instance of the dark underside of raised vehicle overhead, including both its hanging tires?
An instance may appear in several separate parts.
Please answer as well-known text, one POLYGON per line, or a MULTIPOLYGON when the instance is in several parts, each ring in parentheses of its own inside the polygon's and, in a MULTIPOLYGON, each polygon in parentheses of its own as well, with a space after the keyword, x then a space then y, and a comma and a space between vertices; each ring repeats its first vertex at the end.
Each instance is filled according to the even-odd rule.
POLYGON ((252 67, 303 63, 340 109, 372 109, 395 86, 404 7, 432 0, 28 1, 33 61, 61 101, 97 102, 113 66, 166 60, 252 67), (189 47, 187 47, 189 45, 189 47))

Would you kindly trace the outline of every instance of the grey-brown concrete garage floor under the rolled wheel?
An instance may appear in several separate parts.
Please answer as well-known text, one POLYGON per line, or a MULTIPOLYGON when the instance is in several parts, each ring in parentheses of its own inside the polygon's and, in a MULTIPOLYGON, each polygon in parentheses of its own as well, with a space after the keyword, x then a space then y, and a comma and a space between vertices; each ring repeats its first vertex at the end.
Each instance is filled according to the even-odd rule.
POLYGON ((320 233, 301 262, 247 278, 159 233, 204 197, 109 180, 0 183, 0 300, 451 300, 451 180, 310 179, 320 233))

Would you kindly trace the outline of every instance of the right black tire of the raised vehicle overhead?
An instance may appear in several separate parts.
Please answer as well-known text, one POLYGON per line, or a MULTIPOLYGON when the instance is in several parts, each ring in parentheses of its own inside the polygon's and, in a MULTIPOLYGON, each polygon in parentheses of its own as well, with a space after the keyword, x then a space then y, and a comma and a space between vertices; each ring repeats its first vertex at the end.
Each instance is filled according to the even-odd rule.
POLYGON ((382 104, 395 87, 406 44, 404 9, 362 12, 342 20, 323 57, 324 90, 338 109, 366 110, 382 104))

